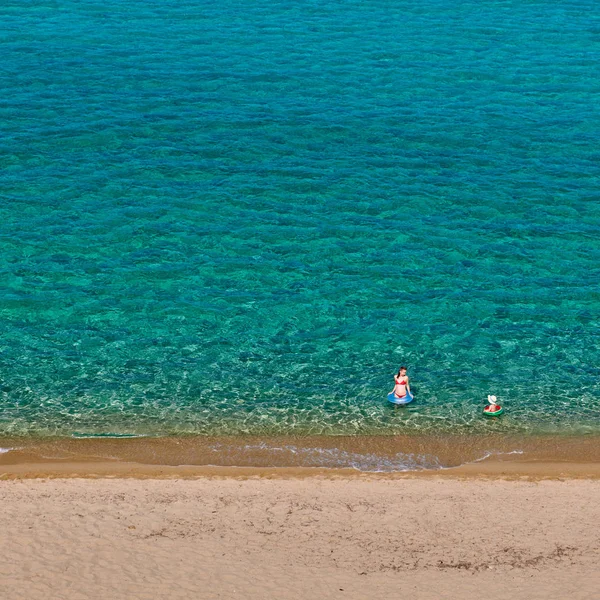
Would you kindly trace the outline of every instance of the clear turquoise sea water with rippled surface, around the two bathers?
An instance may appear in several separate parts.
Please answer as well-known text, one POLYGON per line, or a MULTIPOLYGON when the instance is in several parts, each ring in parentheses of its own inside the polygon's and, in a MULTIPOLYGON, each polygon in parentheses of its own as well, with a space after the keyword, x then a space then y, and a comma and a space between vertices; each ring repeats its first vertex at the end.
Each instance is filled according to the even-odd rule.
POLYGON ((0 434, 600 431, 595 2, 8 0, 0 49, 0 434))

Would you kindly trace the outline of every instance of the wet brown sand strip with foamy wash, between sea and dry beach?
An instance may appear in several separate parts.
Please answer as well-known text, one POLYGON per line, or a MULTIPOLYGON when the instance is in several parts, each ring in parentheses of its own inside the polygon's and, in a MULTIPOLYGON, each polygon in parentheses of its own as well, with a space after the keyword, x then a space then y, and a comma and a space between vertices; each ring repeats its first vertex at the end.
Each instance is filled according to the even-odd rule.
POLYGON ((599 479, 599 442, 596 436, 0 438, 0 478, 599 479))

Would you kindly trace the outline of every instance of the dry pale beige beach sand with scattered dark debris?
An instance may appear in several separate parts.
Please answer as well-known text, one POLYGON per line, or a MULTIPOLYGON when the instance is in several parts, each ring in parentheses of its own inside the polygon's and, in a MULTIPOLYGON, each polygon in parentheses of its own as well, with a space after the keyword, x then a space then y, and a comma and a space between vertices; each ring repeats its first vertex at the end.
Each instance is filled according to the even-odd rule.
POLYGON ((600 598, 600 481, 0 481, 0 598, 600 598))

